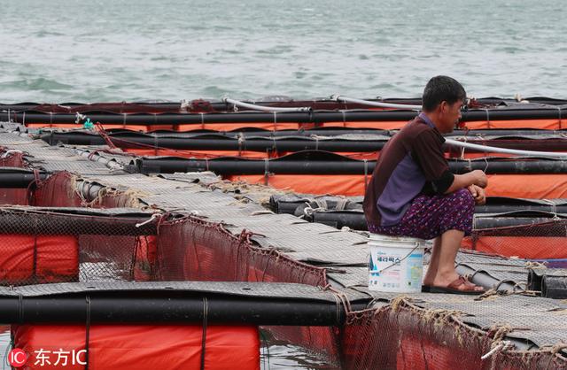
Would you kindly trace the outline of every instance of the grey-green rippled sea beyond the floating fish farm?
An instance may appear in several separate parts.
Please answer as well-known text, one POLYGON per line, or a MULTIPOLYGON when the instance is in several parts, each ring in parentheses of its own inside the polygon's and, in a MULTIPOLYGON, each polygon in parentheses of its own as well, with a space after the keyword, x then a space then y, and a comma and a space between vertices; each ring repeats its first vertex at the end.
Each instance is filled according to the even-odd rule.
POLYGON ((0 102, 567 97, 562 2, 19 0, 0 6, 0 102))

